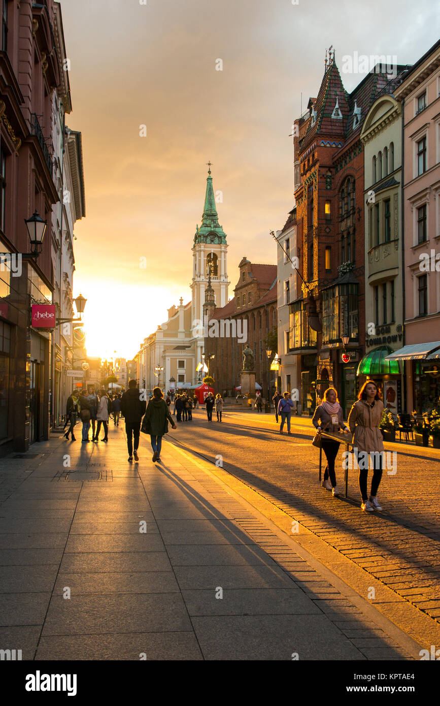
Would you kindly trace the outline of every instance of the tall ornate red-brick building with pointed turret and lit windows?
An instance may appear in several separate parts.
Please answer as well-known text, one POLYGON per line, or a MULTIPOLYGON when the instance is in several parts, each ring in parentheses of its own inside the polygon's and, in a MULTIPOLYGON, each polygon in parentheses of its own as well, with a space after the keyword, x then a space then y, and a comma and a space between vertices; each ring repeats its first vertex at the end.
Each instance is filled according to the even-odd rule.
POLYGON ((348 94, 331 54, 317 98, 310 98, 307 112, 294 123, 295 254, 302 281, 301 294, 290 303, 288 351, 297 356, 306 413, 313 412, 329 384, 338 390, 345 414, 355 400, 357 364, 365 354, 360 131, 369 108, 389 83, 382 68, 375 66, 348 94), (350 357, 348 362, 343 354, 350 357))

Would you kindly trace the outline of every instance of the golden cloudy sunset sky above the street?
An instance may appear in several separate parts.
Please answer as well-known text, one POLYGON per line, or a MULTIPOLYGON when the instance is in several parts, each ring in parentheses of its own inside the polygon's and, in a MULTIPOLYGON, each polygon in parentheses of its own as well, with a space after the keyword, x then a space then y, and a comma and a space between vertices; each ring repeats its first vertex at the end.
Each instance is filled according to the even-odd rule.
MULTIPOLYGON (((412 64, 439 38, 432 0, 61 0, 86 217, 74 295, 87 352, 133 358, 190 300, 206 162, 228 240, 229 297, 243 256, 276 263, 270 229, 293 205, 293 119, 316 96, 331 44, 412 64), (217 59, 223 70, 216 71, 217 59), (140 126, 147 136, 140 136, 140 126), (146 263, 146 267, 143 266, 146 263)), ((342 73, 351 91, 365 74, 342 73)))

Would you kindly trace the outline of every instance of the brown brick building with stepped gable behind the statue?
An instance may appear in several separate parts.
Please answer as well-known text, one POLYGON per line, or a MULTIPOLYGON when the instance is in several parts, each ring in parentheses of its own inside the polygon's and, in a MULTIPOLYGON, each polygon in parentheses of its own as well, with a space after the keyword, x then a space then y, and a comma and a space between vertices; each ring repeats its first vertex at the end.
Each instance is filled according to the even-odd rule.
POLYGON ((214 377, 216 392, 236 395, 243 369, 243 347, 247 343, 254 353, 255 381, 261 385, 263 397, 268 394, 271 397, 276 373, 269 371, 266 347, 269 334, 276 331, 276 265, 252 264, 243 257, 238 269, 234 297, 226 306, 217 308, 212 292, 209 287, 206 289, 204 316, 208 321, 218 322, 218 328, 207 325, 208 335, 204 339, 205 354, 214 353, 209 374, 214 377), (210 336, 209 330, 217 335, 210 336))

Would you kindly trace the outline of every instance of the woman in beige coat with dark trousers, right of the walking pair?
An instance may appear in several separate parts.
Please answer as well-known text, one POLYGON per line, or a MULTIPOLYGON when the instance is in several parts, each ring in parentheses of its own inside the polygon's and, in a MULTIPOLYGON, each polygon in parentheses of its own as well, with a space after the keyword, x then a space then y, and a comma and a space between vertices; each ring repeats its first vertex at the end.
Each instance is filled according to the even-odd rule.
POLYGON ((362 510, 372 513, 381 510, 377 499, 377 489, 382 477, 382 453, 384 451, 383 436, 379 424, 384 411, 384 403, 379 398, 376 383, 367 380, 357 395, 357 402, 350 409, 348 426, 353 433, 353 446, 359 464, 359 489, 362 496, 362 510), (364 452, 364 453, 360 453, 364 452), (367 494, 367 477, 369 454, 373 460, 373 477, 371 493, 367 494))

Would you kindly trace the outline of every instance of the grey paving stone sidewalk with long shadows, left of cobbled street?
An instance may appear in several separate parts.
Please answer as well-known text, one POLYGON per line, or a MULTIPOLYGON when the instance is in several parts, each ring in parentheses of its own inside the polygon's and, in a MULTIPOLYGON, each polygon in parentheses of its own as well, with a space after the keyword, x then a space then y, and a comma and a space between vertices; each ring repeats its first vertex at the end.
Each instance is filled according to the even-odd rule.
POLYGON ((108 444, 52 435, 1 459, 0 649, 37 660, 411 659, 197 475, 168 444, 154 465, 145 438, 129 464, 121 429, 108 444), (288 571, 268 546, 288 554, 288 571))

